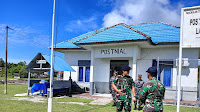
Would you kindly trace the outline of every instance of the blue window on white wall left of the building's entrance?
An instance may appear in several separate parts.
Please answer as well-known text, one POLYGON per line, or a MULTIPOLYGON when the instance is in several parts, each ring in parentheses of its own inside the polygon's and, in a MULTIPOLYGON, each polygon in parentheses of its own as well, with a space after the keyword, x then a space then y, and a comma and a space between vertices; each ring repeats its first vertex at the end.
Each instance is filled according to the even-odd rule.
POLYGON ((90 60, 79 60, 79 77, 78 81, 90 82, 90 60))

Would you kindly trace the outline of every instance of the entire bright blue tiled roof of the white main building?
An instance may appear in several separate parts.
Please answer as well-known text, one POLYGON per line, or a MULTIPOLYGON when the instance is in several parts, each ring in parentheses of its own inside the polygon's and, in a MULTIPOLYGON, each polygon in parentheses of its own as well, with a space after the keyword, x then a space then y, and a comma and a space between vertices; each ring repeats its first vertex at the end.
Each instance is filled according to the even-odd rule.
POLYGON ((101 28, 56 44, 56 49, 82 49, 79 45, 108 42, 149 41, 150 44, 179 43, 180 28, 162 22, 101 28))

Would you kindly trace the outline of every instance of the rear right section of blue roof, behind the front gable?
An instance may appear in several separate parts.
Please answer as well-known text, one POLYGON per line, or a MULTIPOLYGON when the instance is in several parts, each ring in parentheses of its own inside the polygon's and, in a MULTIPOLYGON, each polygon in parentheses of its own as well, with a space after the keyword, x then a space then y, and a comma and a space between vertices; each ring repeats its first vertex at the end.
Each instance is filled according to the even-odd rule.
POLYGON ((130 25, 151 37, 153 43, 179 42, 180 28, 162 22, 130 25))

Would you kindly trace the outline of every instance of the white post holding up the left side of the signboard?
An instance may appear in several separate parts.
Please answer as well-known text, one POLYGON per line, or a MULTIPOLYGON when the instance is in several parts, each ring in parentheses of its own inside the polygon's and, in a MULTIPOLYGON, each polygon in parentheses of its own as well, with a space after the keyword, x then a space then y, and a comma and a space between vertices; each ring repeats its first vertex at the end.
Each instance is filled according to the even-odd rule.
POLYGON ((181 9, 181 31, 179 43, 179 71, 178 71, 178 95, 177 95, 177 112, 180 112, 181 100, 181 71, 182 71, 182 44, 183 44, 183 9, 181 9))

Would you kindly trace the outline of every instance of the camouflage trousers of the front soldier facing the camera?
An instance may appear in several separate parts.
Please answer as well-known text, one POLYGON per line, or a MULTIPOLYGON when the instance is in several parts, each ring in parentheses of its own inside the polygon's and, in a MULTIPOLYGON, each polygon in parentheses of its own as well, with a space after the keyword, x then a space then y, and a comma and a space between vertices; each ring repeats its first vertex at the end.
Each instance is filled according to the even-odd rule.
POLYGON ((131 99, 117 100, 117 112, 122 112, 123 108, 125 112, 131 111, 131 99))

